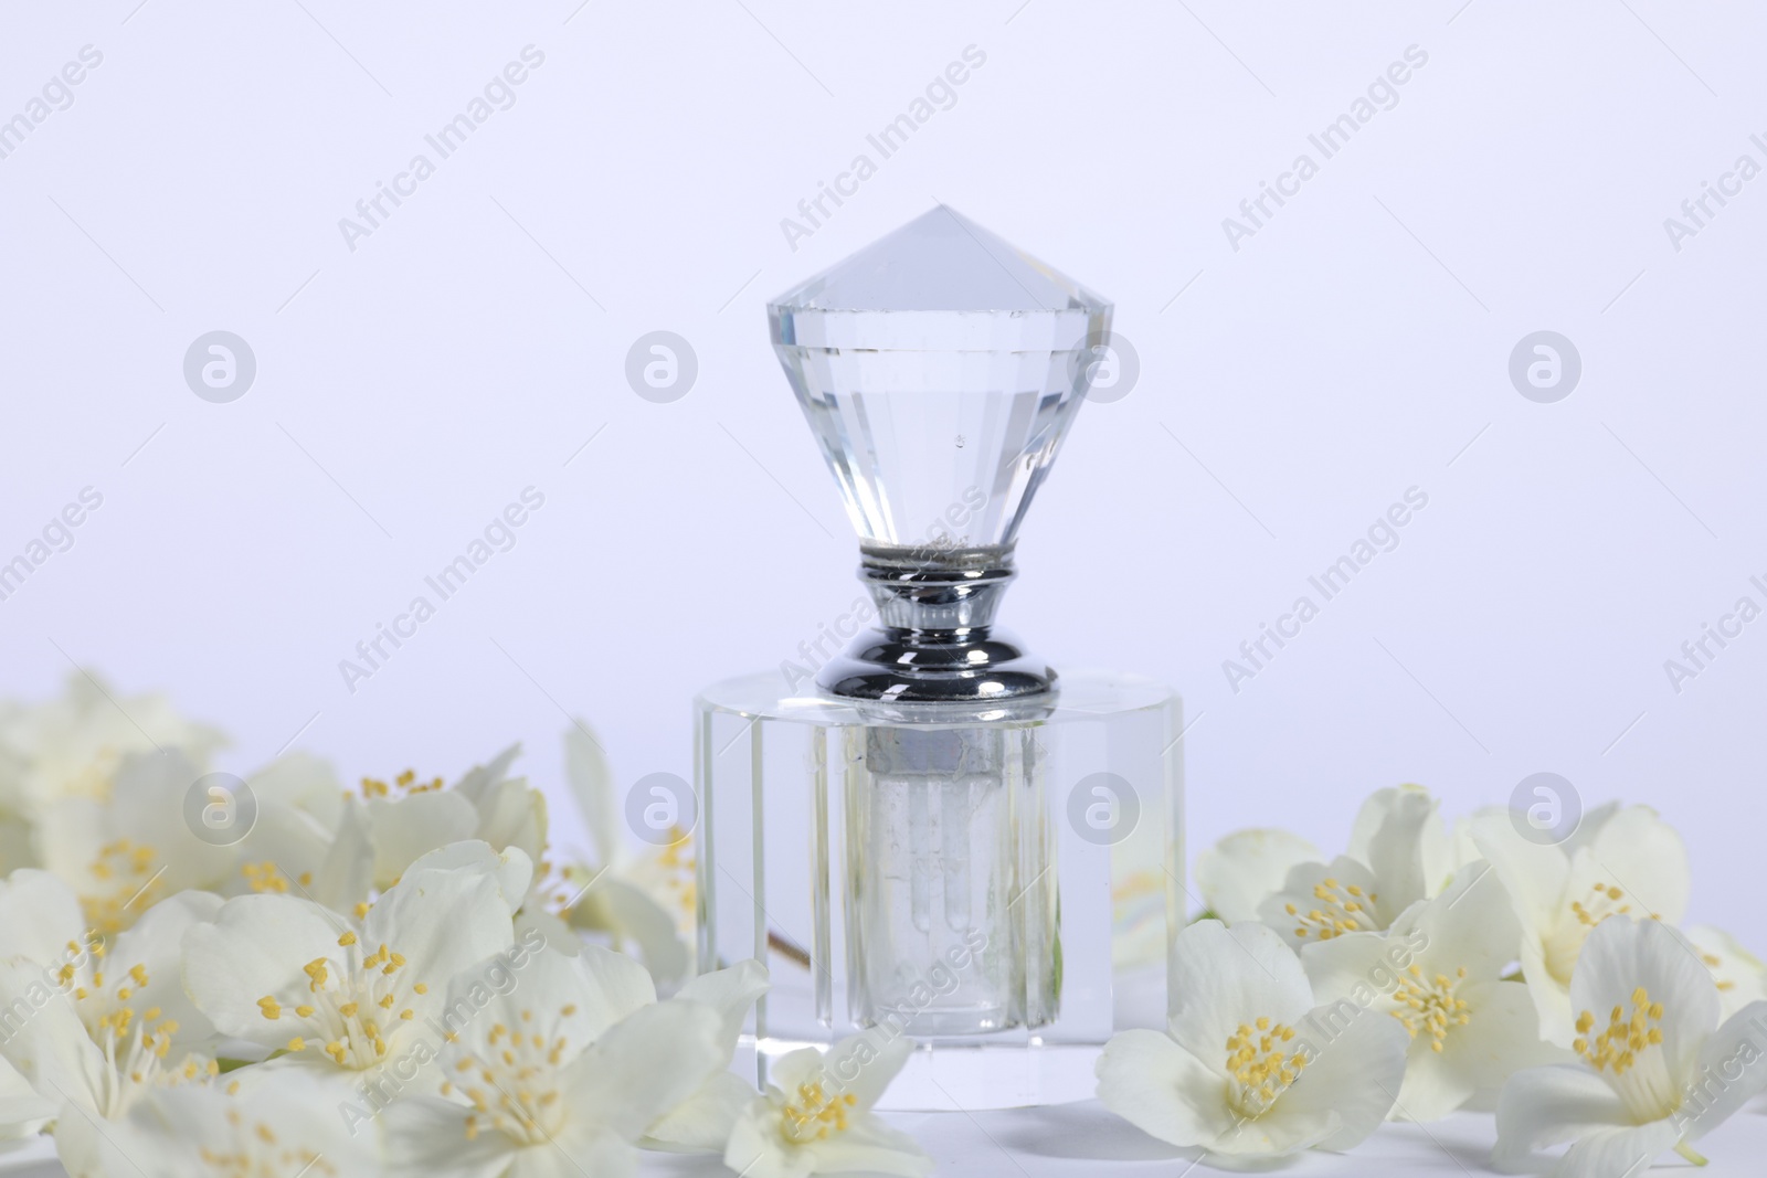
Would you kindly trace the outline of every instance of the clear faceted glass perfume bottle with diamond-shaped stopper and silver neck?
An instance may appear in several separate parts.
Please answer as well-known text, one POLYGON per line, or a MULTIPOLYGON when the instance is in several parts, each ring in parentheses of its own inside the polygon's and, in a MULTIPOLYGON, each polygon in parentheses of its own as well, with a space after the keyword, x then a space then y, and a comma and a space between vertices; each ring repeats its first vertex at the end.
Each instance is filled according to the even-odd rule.
POLYGON ((696 699, 698 961, 760 957, 756 1060, 882 1028, 898 1107, 1083 1099, 1164 1021, 1180 705, 995 625, 1108 302, 938 207, 769 306, 876 627, 696 699))

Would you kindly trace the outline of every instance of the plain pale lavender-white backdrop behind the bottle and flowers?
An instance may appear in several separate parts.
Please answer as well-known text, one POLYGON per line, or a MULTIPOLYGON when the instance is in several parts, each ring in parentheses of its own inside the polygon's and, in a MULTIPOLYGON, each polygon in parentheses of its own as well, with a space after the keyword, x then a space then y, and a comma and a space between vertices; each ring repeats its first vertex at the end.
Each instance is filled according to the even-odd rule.
POLYGON ((1693 917, 1763 947, 1767 622, 1679 694, 1663 668, 1767 606, 1767 178, 1680 251, 1663 226, 1767 164, 1758 9, 136 4, 0 28, 0 118, 104 55, 0 159, 0 558, 104 495, 0 602, 0 691, 69 661, 164 689, 237 772, 297 733, 350 779, 521 740, 557 789, 569 712, 622 781, 687 775, 693 692, 859 592, 763 302, 940 200, 1111 297, 1140 351, 1005 620, 1184 691, 1193 851, 1336 850, 1373 788, 1454 814, 1551 770, 1659 807, 1693 917), (440 161, 424 136, 528 44, 440 161), (793 251, 781 219, 972 44, 956 104, 793 251), (1399 102, 1235 251, 1223 217, 1408 46, 1399 102), (436 173, 352 251, 339 217, 419 152, 436 173), (216 328, 256 353, 231 404, 182 376, 216 328), (671 404, 624 380, 657 328, 700 362, 671 404), (1541 328, 1581 353, 1557 404, 1507 376, 1541 328), (352 694, 339 661, 528 486, 518 546, 352 694), (1412 486, 1401 546, 1233 692, 1223 661, 1412 486))

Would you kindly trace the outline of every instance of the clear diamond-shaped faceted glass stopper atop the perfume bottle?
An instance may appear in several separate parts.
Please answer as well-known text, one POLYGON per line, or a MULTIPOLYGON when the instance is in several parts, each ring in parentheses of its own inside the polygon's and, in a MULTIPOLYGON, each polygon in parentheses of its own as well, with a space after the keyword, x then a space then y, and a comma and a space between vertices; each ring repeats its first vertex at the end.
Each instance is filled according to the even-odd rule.
POLYGON ((868 547, 1007 547, 1111 306, 940 205, 769 307, 868 547))

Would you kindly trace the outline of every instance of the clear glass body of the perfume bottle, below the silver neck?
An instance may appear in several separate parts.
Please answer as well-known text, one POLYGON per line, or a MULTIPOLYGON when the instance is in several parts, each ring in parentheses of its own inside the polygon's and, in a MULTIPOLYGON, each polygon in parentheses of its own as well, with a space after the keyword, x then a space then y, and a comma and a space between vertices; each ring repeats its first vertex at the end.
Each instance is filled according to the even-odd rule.
POLYGON ((781 685, 705 691, 694 733, 698 961, 769 966, 749 1028, 762 1072, 880 1026, 926 1047, 898 1107, 1090 1095, 1090 1067, 1030 1056, 1164 1021, 1184 911, 1177 696, 1071 673, 1030 719, 901 722, 781 685))

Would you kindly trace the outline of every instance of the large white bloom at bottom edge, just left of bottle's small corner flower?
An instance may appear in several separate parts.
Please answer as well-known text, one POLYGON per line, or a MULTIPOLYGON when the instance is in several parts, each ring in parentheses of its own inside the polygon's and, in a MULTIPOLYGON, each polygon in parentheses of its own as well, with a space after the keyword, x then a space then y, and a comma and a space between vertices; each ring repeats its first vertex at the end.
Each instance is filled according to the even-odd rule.
MULTIPOLYGON (((629 1174, 633 1143, 717 1070, 723 1019, 652 1001, 643 966, 585 947, 541 952, 518 985, 465 1021, 440 1097, 383 1114, 398 1174, 629 1174)), ((456 984, 449 1005, 472 1003, 456 984)))

